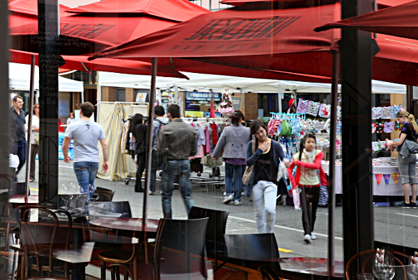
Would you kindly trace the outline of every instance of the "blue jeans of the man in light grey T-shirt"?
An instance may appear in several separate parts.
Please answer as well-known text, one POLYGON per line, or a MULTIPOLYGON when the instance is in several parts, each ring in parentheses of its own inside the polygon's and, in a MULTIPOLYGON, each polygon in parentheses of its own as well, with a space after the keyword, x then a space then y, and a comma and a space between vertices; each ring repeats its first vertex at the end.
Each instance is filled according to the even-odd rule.
POLYGON ((87 192, 87 200, 90 201, 90 190, 88 185, 93 186, 93 192, 95 190, 94 179, 98 174, 99 163, 91 163, 88 161, 79 161, 74 163, 74 172, 77 177, 79 186, 82 187, 83 192, 87 192))

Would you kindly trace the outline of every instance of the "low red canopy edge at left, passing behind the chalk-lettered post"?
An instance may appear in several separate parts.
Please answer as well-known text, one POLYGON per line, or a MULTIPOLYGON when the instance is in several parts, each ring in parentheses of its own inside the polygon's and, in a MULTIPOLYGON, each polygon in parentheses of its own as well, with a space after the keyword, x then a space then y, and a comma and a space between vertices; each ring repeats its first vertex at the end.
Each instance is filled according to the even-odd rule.
MULTIPOLYGON (((26 51, 10 50, 10 62, 31 64, 31 56, 36 56, 36 65, 38 65, 38 53, 29 53, 26 51)), ((104 71, 116 72, 122 74, 150 75, 151 63, 135 60, 123 60, 118 58, 100 58, 88 61, 87 56, 62 56, 65 64, 60 69, 77 71, 104 71)), ((167 66, 158 67, 157 76, 188 79, 187 76, 167 66)))

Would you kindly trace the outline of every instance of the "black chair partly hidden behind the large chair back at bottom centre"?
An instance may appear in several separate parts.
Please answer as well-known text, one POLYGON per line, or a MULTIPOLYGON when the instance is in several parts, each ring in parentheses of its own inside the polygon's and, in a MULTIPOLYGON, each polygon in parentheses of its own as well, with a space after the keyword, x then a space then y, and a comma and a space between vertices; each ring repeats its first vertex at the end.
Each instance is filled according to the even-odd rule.
POLYGON ((206 229, 206 251, 208 256, 215 258, 215 271, 222 265, 217 265, 218 254, 226 256, 226 245, 224 234, 226 231, 226 220, 229 211, 220 211, 208 208, 193 206, 189 213, 189 219, 201 219, 208 217, 208 227, 206 229))

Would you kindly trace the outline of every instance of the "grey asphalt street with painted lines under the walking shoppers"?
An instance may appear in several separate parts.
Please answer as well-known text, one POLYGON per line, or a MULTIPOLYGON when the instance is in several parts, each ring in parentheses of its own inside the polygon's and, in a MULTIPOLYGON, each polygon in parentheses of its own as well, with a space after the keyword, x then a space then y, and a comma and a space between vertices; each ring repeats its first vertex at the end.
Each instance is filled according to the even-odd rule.
MULTIPOLYGON (((38 162, 36 162, 38 165, 38 162)), ((221 169, 222 171, 222 169, 221 169)), ((192 175, 196 175, 192 173, 192 175)), ((208 176, 203 173, 202 176, 208 176)), ((157 178, 159 178, 157 176, 157 178)), ((24 170, 18 175, 20 181, 24 181, 24 170)), ((72 163, 64 163, 59 160, 59 183, 77 185, 77 179, 72 170, 72 163)), ((30 183, 32 192, 36 192, 38 182, 30 183)), ((95 180, 95 186, 116 190, 114 201, 130 201, 132 215, 142 217, 143 193, 134 192, 134 180, 126 186, 123 181, 95 180)), ((161 186, 157 184, 155 195, 148 196, 148 217, 160 219, 162 217, 161 186)), ((242 197, 242 204, 222 204, 222 188, 203 188, 194 186, 192 197, 196 206, 214 208, 229 211, 226 233, 256 233, 254 208, 247 197, 242 197)), ((185 219, 187 213, 180 191, 175 190, 172 199, 173 218, 185 219)), ((335 213, 335 258, 343 259, 342 238, 342 211, 341 206, 336 207, 335 213)), ((418 209, 403 209, 396 207, 373 207, 375 221, 375 239, 397 245, 416 247, 418 209)), ((302 213, 293 206, 277 206, 277 220, 274 234, 277 238, 281 256, 311 256, 327 257, 327 224, 328 209, 318 208, 315 233, 317 239, 311 245, 302 241, 302 213)))

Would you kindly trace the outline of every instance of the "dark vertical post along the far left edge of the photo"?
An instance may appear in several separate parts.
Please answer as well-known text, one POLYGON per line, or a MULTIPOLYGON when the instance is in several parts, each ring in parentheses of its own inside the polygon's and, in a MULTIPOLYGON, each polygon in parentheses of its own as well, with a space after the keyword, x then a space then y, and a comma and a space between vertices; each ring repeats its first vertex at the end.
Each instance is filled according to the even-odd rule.
MULTIPOLYGON (((0 0, 0 174, 7 176, 13 182, 12 172, 9 169, 9 152, 12 147, 10 138, 10 94, 8 88, 8 61, 9 61, 9 35, 8 35, 8 1, 0 0)), ((1 185, 1 189, 7 189, 9 186, 1 185)))

